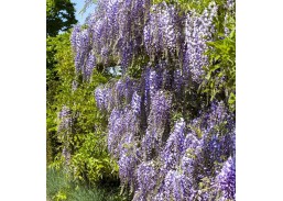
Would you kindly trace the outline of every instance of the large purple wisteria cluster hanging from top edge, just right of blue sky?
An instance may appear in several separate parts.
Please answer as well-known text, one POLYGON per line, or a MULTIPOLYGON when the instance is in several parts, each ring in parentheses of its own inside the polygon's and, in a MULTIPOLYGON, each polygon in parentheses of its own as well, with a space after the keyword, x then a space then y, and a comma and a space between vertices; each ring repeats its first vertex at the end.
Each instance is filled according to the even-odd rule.
POLYGON ((108 65, 116 59, 127 68, 142 46, 145 7, 150 0, 97 1, 88 20, 91 46, 98 63, 108 65), (122 48, 121 48, 122 47, 122 48))

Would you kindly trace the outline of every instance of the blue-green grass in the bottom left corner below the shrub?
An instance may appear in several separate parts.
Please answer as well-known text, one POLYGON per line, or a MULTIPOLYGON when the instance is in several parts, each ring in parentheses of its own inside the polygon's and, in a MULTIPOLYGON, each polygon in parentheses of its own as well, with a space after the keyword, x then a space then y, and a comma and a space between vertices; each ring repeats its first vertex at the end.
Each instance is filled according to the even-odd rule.
POLYGON ((63 170, 47 169, 47 201, 124 201, 119 187, 87 187, 76 185, 63 170))

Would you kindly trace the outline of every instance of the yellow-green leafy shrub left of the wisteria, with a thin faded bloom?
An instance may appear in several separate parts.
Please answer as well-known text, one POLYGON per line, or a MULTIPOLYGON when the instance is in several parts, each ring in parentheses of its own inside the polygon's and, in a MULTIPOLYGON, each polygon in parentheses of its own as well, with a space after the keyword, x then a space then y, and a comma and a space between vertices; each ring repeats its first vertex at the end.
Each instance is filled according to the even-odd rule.
MULTIPOLYGON (((107 119, 96 108, 94 98, 96 86, 105 83, 110 75, 94 71, 91 79, 84 82, 74 70, 69 33, 50 37, 47 42, 55 49, 57 75, 56 88, 47 89, 55 93, 47 98, 50 164, 67 168, 75 180, 86 183, 117 180, 118 166, 106 146, 107 119)), ((55 82, 47 79, 47 87, 52 81, 55 82)))

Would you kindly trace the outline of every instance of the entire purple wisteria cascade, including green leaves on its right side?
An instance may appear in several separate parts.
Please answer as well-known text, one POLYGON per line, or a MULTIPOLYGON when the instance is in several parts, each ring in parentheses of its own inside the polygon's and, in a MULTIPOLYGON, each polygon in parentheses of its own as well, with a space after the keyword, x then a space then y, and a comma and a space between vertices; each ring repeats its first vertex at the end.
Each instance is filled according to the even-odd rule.
POLYGON ((74 27, 85 85, 121 69, 94 96, 132 200, 236 200, 235 36, 230 0, 98 0, 74 27))

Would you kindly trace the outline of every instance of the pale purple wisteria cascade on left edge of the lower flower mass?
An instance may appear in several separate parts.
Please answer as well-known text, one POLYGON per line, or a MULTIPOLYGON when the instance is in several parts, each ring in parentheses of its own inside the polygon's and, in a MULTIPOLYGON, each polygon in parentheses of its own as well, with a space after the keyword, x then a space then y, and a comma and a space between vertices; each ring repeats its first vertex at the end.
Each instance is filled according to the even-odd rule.
POLYGON ((108 150, 118 158, 121 182, 133 186, 134 170, 140 158, 135 135, 139 121, 132 110, 113 109, 108 124, 108 150))

